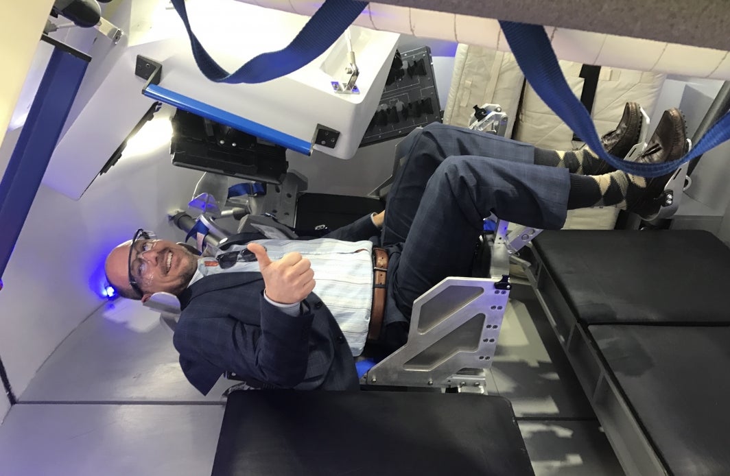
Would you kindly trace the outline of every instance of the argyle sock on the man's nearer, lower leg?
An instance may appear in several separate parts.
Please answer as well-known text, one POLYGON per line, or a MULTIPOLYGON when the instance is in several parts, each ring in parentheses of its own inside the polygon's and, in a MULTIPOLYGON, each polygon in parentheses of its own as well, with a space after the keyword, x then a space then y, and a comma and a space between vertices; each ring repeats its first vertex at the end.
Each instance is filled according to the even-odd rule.
POLYGON ((648 179, 621 170, 602 175, 570 174, 568 210, 616 206, 626 210, 647 191, 648 179))

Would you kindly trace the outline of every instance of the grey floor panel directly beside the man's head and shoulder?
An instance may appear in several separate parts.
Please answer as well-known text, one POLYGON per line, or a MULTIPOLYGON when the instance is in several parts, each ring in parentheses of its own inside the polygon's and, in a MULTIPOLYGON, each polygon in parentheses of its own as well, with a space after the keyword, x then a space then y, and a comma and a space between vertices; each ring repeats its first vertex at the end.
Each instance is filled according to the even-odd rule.
POLYGON ((95 312, 41 366, 21 402, 219 402, 234 382, 202 396, 185 379, 159 313, 118 299, 95 312))

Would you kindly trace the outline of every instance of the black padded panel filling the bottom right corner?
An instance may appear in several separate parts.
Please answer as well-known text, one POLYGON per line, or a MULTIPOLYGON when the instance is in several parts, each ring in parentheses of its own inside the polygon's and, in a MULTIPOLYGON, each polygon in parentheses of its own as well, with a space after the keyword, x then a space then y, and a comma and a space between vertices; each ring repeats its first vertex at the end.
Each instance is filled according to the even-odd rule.
POLYGON ((730 473, 730 328, 589 326, 674 475, 730 473))

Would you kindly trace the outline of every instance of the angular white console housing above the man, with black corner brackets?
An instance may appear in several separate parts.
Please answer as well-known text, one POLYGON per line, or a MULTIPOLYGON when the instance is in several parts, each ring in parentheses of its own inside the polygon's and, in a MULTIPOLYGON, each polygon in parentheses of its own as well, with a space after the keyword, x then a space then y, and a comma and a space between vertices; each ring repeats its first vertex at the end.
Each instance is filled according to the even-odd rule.
MULTIPOLYGON (((191 2, 189 16, 196 36, 228 71, 255 55, 285 47, 308 20, 236 1, 210 3, 191 2)), ((95 61, 44 177, 46 185, 72 199, 82 195, 153 104, 152 99, 142 96, 145 80, 134 74, 137 55, 163 64, 162 88, 296 137, 305 144, 312 142, 318 124, 340 131, 336 147, 315 145, 314 149, 349 159, 380 101, 399 37, 350 28, 360 70, 360 94, 332 91, 332 80, 345 79, 344 37, 311 64, 277 80, 216 84, 199 72, 177 12, 156 8, 149 13, 153 20, 146 25, 147 31, 137 31, 139 27, 133 25, 133 34, 123 37, 118 45, 104 45, 93 51, 95 61), (98 128, 100 121, 108 126, 98 128)))

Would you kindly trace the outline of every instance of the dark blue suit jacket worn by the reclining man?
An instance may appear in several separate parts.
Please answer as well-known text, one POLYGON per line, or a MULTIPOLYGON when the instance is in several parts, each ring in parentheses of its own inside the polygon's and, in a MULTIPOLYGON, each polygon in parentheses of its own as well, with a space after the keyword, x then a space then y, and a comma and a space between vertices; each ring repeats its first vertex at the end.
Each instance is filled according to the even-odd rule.
MULTIPOLYGON (((326 238, 358 241, 379 233, 365 216, 326 238)), ((207 394, 228 371, 276 388, 357 389, 350 347, 326 304, 311 293, 292 317, 263 292, 261 273, 229 272, 204 277, 179 296, 183 312, 173 342, 190 383, 207 394)))

